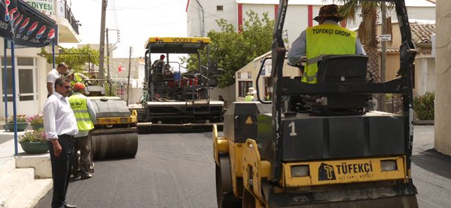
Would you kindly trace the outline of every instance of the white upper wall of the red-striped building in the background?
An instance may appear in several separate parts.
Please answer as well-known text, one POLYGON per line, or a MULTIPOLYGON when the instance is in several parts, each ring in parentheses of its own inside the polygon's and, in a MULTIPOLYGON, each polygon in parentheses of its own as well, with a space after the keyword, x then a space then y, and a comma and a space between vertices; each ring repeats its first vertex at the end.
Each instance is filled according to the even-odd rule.
MULTIPOLYGON (((237 3, 235 1, 218 1, 218 0, 199 0, 201 2, 204 11, 205 11, 205 35, 210 30, 219 31, 220 28, 216 24, 216 19, 224 18, 227 19, 230 23, 234 24, 237 28, 238 26, 238 9, 237 3), (219 12, 216 11, 216 5, 223 5, 224 11, 219 12)), ((276 2, 276 1, 274 1, 276 2)), ((278 1, 277 1, 278 2, 278 1)), ((321 5, 313 5, 312 6, 312 17, 316 17, 319 12, 319 8, 321 8, 321 1, 318 0, 318 4, 321 5)), ((198 5, 196 1, 189 1, 189 8, 187 12, 187 31, 189 36, 200 36, 200 24, 198 17, 198 5)), ((256 4, 256 3, 243 3, 243 18, 248 19, 246 16, 246 11, 253 10, 259 14, 262 12, 269 12, 269 18, 275 18, 275 5, 274 4, 256 4)), ((407 3, 409 5, 409 3, 407 3)), ((417 5, 417 4, 412 4, 417 5)), ((398 21, 396 17, 396 12, 393 9, 390 10, 392 22, 398 21)), ((425 20, 435 20, 435 7, 418 7, 418 6, 409 6, 407 8, 407 13, 409 19, 425 19, 425 20)), ((360 12, 357 12, 360 14, 360 12)), ((379 12, 380 16, 380 12, 379 12)), ((300 4, 289 4, 287 10, 287 17, 285 18, 284 30, 288 31, 289 44, 291 44, 296 38, 300 35, 300 33, 305 30, 308 26, 308 6, 300 5, 300 4)), ((381 21, 379 19, 379 21, 381 21)), ((348 22, 347 28, 357 28, 361 22, 361 17, 357 17, 355 22, 348 22)), ((316 21, 312 21, 313 26, 318 25, 316 21)))

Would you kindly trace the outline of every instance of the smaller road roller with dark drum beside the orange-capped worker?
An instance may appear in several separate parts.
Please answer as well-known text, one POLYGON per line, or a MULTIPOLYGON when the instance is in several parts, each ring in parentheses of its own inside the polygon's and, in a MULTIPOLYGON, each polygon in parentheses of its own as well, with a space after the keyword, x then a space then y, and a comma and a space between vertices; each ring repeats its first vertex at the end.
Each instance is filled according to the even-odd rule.
POLYGON ((135 157, 138 150, 137 113, 128 110, 126 101, 111 96, 109 80, 85 80, 85 85, 85 95, 90 98, 97 117, 90 132, 92 157, 135 157), (108 94, 101 83, 109 84, 108 94))

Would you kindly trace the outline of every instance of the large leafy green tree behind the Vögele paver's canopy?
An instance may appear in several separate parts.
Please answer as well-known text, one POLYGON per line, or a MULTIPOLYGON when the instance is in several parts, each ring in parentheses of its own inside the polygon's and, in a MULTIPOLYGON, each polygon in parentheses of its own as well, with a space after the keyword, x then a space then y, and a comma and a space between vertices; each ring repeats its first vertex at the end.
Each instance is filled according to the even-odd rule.
MULTIPOLYGON (((233 85, 236 71, 271 50, 274 21, 269 19, 268 12, 264 12, 261 18, 253 10, 246 12, 246 15, 248 19, 244 19, 241 33, 225 19, 216 20, 221 31, 208 32, 207 36, 212 40, 210 60, 218 62, 218 67, 224 70, 218 78, 219 87, 233 85)), ((206 54, 206 50, 201 51, 203 65, 207 62, 206 54)), ((187 63, 189 71, 198 69, 196 54, 182 58, 182 62, 187 63)))

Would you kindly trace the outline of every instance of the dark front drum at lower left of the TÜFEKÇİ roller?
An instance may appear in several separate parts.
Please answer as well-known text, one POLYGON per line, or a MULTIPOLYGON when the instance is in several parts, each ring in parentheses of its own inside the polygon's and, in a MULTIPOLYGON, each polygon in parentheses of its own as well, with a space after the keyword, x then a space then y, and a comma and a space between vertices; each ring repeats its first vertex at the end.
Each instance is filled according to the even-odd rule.
POLYGON ((241 207, 241 200, 236 198, 232 191, 229 155, 219 155, 219 163, 221 166, 216 165, 216 200, 218 208, 241 207))

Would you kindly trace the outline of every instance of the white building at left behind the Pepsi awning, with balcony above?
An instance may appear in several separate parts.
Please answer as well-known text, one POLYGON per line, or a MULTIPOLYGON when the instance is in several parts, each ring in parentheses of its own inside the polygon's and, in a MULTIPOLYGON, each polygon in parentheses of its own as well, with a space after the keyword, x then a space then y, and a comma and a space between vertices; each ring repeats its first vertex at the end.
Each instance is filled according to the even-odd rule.
MULTIPOLYGON (((70 0, 47 0, 45 3, 51 6, 42 7, 42 1, 27 0, 29 5, 37 8, 42 13, 56 21, 58 25, 58 42, 59 43, 78 43, 78 21, 76 21, 74 14, 71 13, 70 0), (41 4, 37 4, 41 3, 41 4), (41 5, 41 6, 40 6, 41 5)), ((0 38, 0 47, 3 49, 3 38, 0 38)), ((57 46, 56 46, 57 47, 57 46)), ((47 51, 51 51, 51 46, 46 46, 47 51)), ((44 101, 46 100, 46 74, 52 69, 52 65, 46 62, 37 53, 40 53, 40 48, 26 48, 15 50, 15 80, 11 76, 11 58, 10 50, 7 50, 8 56, 8 88, 6 94, 8 96, 8 115, 12 115, 12 85, 11 81, 15 82, 16 86, 16 101, 17 114, 26 114, 31 116, 42 111, 44 101)), ((1 56, 1 74, 0 79, 3 86, 3 50, 0 50, 1 56)), ((58 63, 56 63, 58 64, 58 63)), ((3 118, 5 114, 5 102, 3 87, 0 87, 0 94, 2 96, 0 106, 0 116, 3 118)))

